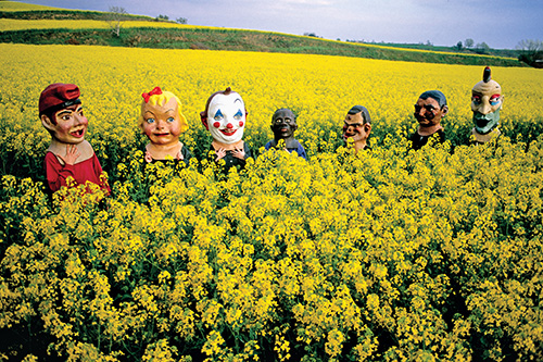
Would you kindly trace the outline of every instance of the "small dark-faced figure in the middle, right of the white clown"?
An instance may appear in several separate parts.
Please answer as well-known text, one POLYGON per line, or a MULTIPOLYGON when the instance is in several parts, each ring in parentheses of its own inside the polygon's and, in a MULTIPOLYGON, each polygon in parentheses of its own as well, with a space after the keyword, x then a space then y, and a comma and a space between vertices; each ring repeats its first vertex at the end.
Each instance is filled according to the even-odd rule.
POLYGON ((294 130, 298 129, 296 116, 291 110, 281 108, 275 111, 272 117, 272 130, 274 132, 274 139, 267 142, 264 148, 269 150, 270 148, 277 148, 279 141, 282 139, 285 142, 286 151, 292 153, 296 151, 298 155, 307 160, 305 154, 305 149, 303 146, 294 138, 294 130))

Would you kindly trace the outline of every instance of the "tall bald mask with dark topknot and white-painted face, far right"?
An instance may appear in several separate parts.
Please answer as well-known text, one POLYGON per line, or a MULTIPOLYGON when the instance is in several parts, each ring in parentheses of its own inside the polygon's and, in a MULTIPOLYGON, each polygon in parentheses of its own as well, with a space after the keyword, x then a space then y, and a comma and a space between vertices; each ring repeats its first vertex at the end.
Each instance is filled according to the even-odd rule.
POLYGON ((482 80, 471 89, 471 111, 475 127, 471 135, 478 143, 484 143, 500 136, 497 129, 500 110, 504 101, 502 87, 492 80, 490 67, 484 68, 482 80))

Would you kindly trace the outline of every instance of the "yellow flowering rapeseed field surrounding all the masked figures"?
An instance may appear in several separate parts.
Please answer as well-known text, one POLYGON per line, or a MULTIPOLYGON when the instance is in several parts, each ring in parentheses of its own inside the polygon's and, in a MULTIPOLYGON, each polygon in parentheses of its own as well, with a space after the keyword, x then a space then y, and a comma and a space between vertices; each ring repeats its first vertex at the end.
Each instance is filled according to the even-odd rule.
POLYGON ((470 145, 480 66, 0 45, 0 359, 543 359, 543 73, 493 67, 497 141, 470 145), (74 83, 112 196, 51 197, 38 98, 74 83), (143 165, 141 93, 176 93, 190 166, 143 165), (207 97, 238 91, 257 155, 206 161, 207 97), (447 142, 408 151, 413 105, 447 98, 447 142), (341 140, 352 105, 371 151, 341 140), (264 152, 276 109, 308 160, 264 152))

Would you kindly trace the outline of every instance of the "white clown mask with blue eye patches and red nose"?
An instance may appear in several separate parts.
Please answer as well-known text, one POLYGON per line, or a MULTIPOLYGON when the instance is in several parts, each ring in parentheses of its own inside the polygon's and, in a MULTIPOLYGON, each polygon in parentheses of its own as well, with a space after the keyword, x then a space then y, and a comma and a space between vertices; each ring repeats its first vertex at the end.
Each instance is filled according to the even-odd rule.
POLYGON ((215 141, 231 145, 243 137, 245 105, 235 91, 218 92, 210 101, 204 123, 215 141))

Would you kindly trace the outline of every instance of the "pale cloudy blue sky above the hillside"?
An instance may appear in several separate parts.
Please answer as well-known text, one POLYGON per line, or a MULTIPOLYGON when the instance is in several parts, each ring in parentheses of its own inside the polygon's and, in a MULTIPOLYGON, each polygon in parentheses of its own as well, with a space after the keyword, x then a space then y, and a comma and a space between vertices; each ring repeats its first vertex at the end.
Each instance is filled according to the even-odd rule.
POLYGON ((515 49, 520 40, 543 40, 543 0, 23 0, 65 9, 108 11, 188 24, 326 39, 427 42, 452 46, 467 38, 491 48, 515 49))

